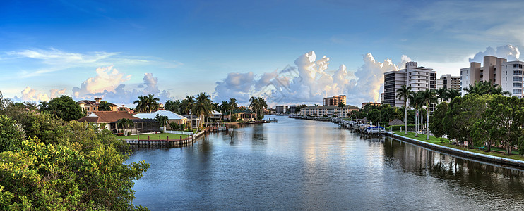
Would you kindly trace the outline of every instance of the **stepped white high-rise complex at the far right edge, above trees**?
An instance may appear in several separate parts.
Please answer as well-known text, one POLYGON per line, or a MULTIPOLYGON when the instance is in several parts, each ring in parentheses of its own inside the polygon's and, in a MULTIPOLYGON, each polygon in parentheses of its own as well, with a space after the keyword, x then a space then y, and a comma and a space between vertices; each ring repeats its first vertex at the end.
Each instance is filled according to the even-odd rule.
MULTIPOLYGON (((523 96, 523 68, 524 62, 519 60, 508 61, 506 58, 484 56, 483 66, 472 62, 469 68, 460 69, 460 88, 468 88, 476 82, 491 82, 498 84, 512 96, 523 96)), ((466 91, 461 91, 466 94, 466 91)))

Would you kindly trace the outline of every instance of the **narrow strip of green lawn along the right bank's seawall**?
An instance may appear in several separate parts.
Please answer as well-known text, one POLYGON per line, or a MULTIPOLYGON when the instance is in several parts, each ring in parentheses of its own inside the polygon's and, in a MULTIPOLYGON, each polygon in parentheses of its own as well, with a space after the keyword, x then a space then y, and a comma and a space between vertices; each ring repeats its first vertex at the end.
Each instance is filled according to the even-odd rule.
POLYGON ((415 137, 415 133, 413 132, 407 132, 407 135, 405 135, 405 132, 403 131, 395 131, 393 132, 394 134, 397 134, 397 135, 400 135, 400 136, 405 136, 405 137, 408 137, 408 138, 412 138, 412 139, 417 139, 419 141, 426 141, 426 142, 429 142, 429 143, 434 143, 434 144, 437 144, 437 145, 441 145, 441 146, 447 146, 447 147, 451 147, 451 148, 456 148, 456 149, 460 149, 460 150, 463 150, 463 151, 470 151, 470 152, 473 152, 473 153, 480 153, 480 154, 484 154, 484 155, 492 155, 492 156, 496 156, 496 157, 500 157, 500 158, 510 158, 510 159, 515 159, 515 160, 524 160, 524 156, 520 156, 518 155, 518 151, 513 151, 513 155, 504 155, 504 153, 506 153, 506 150, 505 149, 501 149, 501 148, 493 148, 492 147, 492 151, 491 152, 487 152, 487 151, 484 151, 484 150, 480 150, 478 148, 465 148, 463 146, 453 146, 453 144, 449 143, 450 141, 448 139, 444 139, 444 142, 441 142, 440 139, 441 138, 436 138, 435 136, 429 136, 429 140, 426 140, 426 134, 419 134, 418 137, 415 137))

